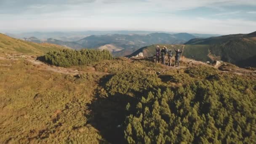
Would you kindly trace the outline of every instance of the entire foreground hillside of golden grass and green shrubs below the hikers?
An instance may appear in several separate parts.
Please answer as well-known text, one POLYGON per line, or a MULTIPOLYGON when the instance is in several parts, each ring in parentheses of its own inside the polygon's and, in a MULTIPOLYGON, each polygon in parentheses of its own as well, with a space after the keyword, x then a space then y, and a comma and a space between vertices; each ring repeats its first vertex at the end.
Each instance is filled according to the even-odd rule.
POLYGON ((256 142, 253 71, 189 61, 181 69, 130 59, 37 63, 0 57, 0 143, 256 142))

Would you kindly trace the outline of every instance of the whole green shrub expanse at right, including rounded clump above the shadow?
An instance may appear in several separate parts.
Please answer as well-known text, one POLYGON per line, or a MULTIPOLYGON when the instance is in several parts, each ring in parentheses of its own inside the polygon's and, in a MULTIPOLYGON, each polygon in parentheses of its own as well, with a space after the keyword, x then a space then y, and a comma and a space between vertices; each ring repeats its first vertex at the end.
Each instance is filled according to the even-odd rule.
POLYGON ((133 99, 123 127, 129 144, 256 143, 254 78, 204 66, 163 75, 125 70, 104 87, 105 96, 133 99))

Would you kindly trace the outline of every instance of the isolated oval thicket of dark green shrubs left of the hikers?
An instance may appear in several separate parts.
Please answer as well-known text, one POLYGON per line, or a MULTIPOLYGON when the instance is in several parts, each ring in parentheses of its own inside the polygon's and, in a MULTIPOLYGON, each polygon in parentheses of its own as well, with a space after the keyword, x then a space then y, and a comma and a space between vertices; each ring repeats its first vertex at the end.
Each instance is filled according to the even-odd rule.
POLYGON ((98 51, 83 49, 75 51, 65 49, 62 51, 50 51, 44 56, 38 57, 38 59, 58 67, 70 67, 91 64, 102 60, 111 60, 112 55, 106 50, 98 51))

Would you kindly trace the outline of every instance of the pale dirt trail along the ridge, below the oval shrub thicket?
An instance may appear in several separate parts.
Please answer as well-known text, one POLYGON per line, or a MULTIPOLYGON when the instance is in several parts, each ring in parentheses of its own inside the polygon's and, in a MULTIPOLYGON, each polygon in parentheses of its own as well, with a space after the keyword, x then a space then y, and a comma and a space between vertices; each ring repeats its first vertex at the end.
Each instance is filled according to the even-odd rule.
MULTIPOLYGON (((68 75, 78 75, 78 74, 83 74, 83 73, 96 73, 96 74, 103 74, 103 75, 108 75, 109 73, 106 72, 98 72, 94 67, 87 67, 86 71, 78 71, 77 69, 74 68, 64 68, 64 67, 56 67, 52 65, 48 65, 43 63, 42 61, 37 61, 35 60, 34 56, 28 56, 28 55, 11 55, 8 54, 6 57, 0 56, 1 60, 19 60, 19 59, 25 59, 32 64, 34 64, 37 69, 40 70, 47 70, 47 71, 52 71, 52 72, 58 72, 61 74, 68 74, 68 75)), ((8 65, 11 66, 11 65, 8 65)))

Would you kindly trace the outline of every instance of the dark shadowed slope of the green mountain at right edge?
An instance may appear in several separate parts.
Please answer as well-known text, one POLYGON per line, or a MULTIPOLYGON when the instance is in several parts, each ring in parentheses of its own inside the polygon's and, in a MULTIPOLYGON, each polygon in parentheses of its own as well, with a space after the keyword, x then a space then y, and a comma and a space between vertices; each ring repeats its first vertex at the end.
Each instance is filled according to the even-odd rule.
MULTIPOLYGON (((186 45, 208 45, 208 50, 220 60, 240 67, 255 67, 256 32, 250 34, 224 35, 207 39, 192 39, 186 45)), ((207 48, 207 47, 205 47, 207 48)))

